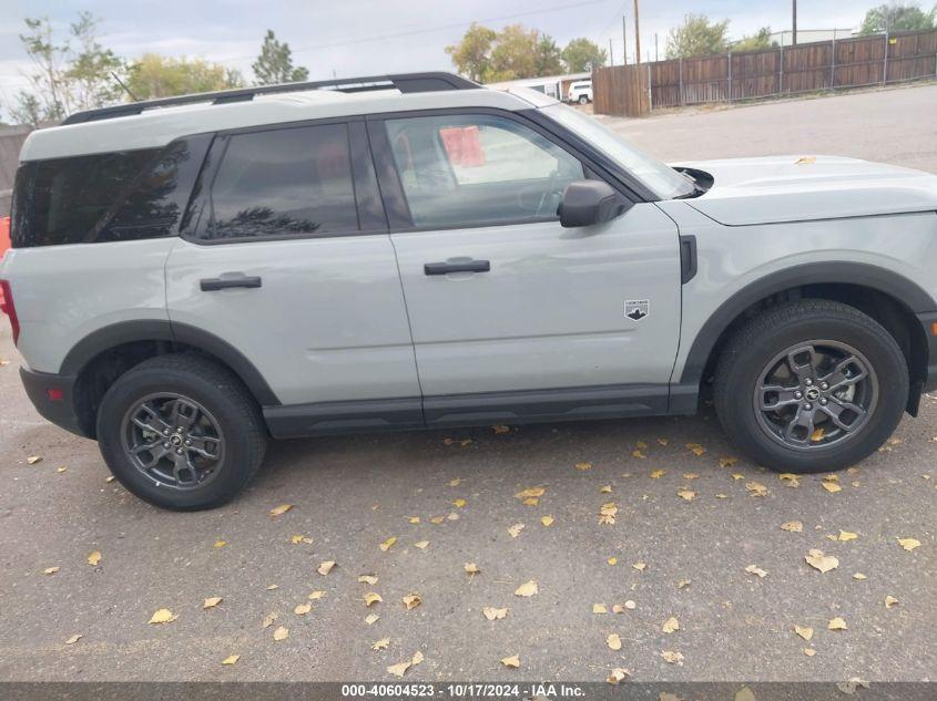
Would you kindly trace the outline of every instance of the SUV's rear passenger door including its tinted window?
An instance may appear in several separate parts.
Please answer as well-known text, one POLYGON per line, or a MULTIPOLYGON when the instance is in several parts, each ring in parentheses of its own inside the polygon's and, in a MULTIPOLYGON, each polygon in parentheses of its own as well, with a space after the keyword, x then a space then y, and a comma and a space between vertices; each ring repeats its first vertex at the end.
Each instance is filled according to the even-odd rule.
POLYGON ((233 346, 294 408, 281 433, 421 424, 361 121, 218 135, 166 279, 174 329, 233 346))

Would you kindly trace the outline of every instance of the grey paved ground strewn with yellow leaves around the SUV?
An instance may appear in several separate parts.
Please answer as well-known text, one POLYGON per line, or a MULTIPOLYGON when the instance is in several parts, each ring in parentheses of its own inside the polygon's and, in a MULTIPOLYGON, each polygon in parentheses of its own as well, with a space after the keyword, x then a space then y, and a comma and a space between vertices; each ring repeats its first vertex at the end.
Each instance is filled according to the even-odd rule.
MULTIPOLYGON (((617 128, 669 159, 833 153, 937 172, 935 113, 925 86, 617 128)), ((2 680, 394 679, 417 651, 407 680, 601 681, 615 667, 635 681, 937 678, 934 399, 838 483, 735 462, 705 412, 284 442, 235 504, 171 514, 106 482, 94 443, 39 419, 2 327, 2 680), (516 497, 530 487, 544 489, 536 505, 516 497), (271 516, 281 504, 293 507, 271 516), (814 548, 838 567, 811 567, 814 548), (515 594, 531 580, 534 596, 515 594), (383 601, 366 607, 368 592, 383 601), (203 608, 208 597, 222 601, 203 608), (149 625, 163 608, 177 619, 149 625), (515 654, 519 669, 500 662, 515 654)))

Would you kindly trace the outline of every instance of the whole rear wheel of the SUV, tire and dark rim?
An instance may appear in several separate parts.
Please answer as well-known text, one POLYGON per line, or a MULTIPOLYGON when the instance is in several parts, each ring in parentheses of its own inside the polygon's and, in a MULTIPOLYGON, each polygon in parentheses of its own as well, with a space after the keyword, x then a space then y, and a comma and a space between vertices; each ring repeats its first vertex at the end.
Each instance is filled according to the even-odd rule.
POLYGON ((141 499, 200 511, 226 504, 251 482, 267 433, 230 370, 173 353, 143 361, 111 385, 98 410, 98 443, 113 475, 141 499))

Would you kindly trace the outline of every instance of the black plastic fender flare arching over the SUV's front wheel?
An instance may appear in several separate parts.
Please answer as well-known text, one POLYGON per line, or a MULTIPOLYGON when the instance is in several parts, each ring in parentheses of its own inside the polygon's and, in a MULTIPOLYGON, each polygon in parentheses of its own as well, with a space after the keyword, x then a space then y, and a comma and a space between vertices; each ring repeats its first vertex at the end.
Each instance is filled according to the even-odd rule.
MULTIPOLYGON (((703 371, 713 348, 745 309, 758 300, 803 285, 847 284, 867 287, 888 295, 911 313, 937 310, 937 302, 916 282, 878 266, 845 260, 808 262, 778 270, 743 287, 724 301, 700 329, 680 377, 680 384, 696 385, 703 381, 703 371)), ((691 302, 692 303, 692 302, 691 302)))

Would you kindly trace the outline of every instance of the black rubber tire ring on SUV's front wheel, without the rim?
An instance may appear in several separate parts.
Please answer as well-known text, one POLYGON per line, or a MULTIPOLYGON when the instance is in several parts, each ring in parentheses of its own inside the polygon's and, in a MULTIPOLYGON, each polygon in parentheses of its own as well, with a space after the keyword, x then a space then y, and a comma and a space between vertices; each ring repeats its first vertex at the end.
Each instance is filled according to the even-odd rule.
POLYGON ((724 378, 726 396, 720 412, 723 427, 761 464, 786 472, 831 472, 867 457, 892 435, 907 403, 908 373, 904 354, 885 329, 880 333, 847 318, 813 317, 784 323, 737 353, 724 378), (757 421, 755 384, 767 362, 784 349, 811 340, 835 340, 858 350, 878 380, 878 401, 865 426, 847 441, 806 452, 787 449, 768 436, 757 421))

